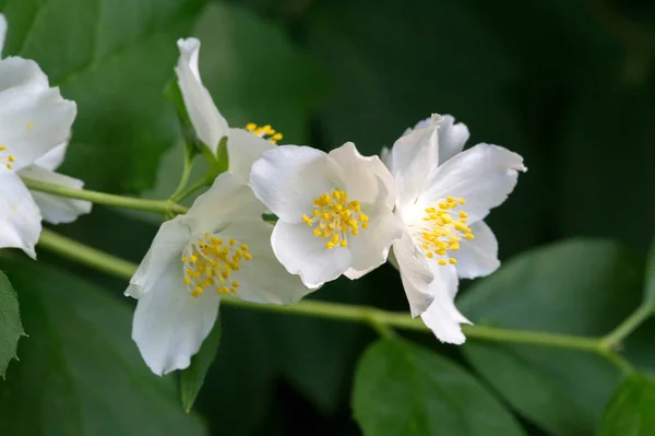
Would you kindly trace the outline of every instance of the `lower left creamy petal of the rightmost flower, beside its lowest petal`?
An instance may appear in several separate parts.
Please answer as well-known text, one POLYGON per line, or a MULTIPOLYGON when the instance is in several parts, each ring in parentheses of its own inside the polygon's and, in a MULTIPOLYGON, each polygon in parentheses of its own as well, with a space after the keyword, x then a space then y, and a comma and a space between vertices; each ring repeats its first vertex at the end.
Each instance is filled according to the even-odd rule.
POLYGON ((432 282, 432 272, 426 256, 414 245, 408 232, 403 232, 400 240, 393 244, 393 256, 401 270, 401 280, 409 310, 417 317, 430 306, 434 296, 428 292, 432 282))

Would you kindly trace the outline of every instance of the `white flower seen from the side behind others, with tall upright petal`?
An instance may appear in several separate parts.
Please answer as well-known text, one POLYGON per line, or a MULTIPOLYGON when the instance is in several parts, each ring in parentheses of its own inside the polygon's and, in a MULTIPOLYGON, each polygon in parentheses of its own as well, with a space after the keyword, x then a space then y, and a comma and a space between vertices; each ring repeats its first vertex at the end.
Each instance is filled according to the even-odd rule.
POLYGON ((254 160, 266 150, 273 149, 283 138, 282 133, 273 130, 271 126, 258 127, 254 123, 249 123, 246 129, 228 127, 200 79, 200 40, 179 39, 178 47, 180 59, 175 71, 195 134, 214 156, 221 140, 227 135, 228 172, 241 181, 247 181, 254 160))

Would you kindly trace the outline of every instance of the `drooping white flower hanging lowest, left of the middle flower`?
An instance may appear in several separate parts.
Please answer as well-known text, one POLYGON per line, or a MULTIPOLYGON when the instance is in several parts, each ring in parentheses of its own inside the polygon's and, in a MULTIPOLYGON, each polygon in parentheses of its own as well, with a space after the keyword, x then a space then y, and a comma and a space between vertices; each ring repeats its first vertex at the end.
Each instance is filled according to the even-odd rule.
POLYGON ((310 292, 275 259, 263 211, 248 186, 224 173, 186 215, 159 228, 126 291, 139 298, 132 339, 155 374, 189 366, 222 296, 289 304, 310 292))

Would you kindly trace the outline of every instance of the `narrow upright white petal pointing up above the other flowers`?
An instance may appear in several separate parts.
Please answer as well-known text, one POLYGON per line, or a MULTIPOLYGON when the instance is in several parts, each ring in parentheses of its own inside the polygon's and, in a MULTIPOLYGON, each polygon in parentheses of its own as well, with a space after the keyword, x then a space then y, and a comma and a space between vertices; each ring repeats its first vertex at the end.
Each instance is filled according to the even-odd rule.
POLYGON ((198 71, 200 40, 178 39, 180 59, 175 72, 182 92, 187 113, 198 138, 215 155, 221 139, 227 134, 227 121, 214 105, 210 92, 203 86, 198 71))

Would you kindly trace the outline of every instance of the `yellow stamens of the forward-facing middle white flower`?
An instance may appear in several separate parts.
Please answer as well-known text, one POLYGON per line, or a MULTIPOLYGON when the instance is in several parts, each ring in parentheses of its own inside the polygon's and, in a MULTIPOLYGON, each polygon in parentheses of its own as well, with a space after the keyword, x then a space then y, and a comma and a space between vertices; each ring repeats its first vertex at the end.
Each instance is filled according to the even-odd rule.
POLYGON ((360 226, 368 228, 369 216, 361 212, 359 201, 348 202, 346 192, 334 190, 317 197, 311 216, 305 214, 302 221, 314 227, 314 236, 327 239, 325 248, 333 249, 347 247, 348 234, 357 236, 360 226))

